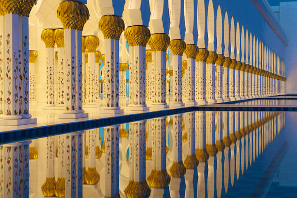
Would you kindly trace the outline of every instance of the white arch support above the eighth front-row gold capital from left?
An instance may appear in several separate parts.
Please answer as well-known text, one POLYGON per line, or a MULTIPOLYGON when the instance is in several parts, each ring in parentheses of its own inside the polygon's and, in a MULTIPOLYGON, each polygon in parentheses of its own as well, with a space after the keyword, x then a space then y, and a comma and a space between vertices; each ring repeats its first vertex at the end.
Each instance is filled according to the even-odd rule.
POLYGON ((198 0, 197 5, 198 47, 205 48, 205 5, 204 0, 198 0))

